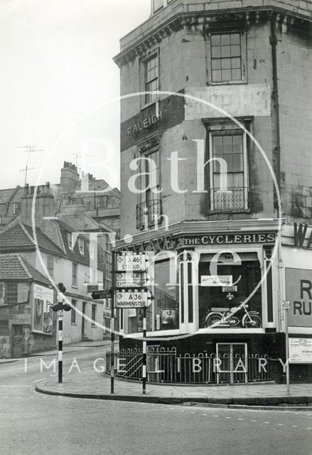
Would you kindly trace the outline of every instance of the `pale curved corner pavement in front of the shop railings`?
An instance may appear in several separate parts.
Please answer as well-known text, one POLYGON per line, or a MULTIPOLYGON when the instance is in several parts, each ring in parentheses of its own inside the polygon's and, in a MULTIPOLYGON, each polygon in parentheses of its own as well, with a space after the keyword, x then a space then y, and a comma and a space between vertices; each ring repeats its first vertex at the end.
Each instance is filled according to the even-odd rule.
MULTIPOLYGON (((93 360, 94 362, 94 360, 93 360)), ((114 378, 114 394, 110 392, 111 378, 104 373, 104 358, 97 357, 96 363, 85 365, 71 363, 63 370, 63 383, 53 377, 36 385, 36 390, 47 395, 93 398, 97 400, 121 400, 151 402, 171 405, 200 404, 212 407, 235 407, 237 409, 312 410, 312 383, 294 384, 290 395, 286 385, 274 382, 243 385, 157 385, 147 382, 146 394, 142 383, 114 378)))

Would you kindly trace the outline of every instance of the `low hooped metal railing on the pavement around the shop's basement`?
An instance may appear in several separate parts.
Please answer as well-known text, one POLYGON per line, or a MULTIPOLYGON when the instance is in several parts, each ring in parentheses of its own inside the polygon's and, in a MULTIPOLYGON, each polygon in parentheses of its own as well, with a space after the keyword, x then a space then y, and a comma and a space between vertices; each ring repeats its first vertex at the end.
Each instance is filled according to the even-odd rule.
MULTIPOLYGON (((109 373, 110 352, 106 353, 109 373)), ((141 380, 143 353, 141 350, 114 352, 114 370, 119 377, 141 380)), ((183 355, 176 349, 149 348, 147 353, 149 382, 180 384, 219 384, 257 382, 271 379, 271 359, 267 355, 208 355, 207 353, 183 355)))

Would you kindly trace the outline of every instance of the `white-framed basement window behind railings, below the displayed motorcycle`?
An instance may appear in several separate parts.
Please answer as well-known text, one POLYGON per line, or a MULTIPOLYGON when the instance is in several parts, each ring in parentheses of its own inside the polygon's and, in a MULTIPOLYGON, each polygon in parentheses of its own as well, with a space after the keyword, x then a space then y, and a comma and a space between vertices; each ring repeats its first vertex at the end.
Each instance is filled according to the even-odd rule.
POLYGON ((217 343, 217 384, 247 382, 247 343, 217 343))

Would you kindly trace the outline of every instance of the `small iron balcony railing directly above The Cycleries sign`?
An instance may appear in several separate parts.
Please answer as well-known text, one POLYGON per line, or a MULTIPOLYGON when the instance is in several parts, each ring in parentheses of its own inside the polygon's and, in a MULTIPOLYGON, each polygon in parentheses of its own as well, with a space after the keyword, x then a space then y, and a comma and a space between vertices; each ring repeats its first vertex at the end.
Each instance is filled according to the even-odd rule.
POLYGON ((247 187, 210 190, 210 213, 247 212, 249 208, 249 188, 247 187))

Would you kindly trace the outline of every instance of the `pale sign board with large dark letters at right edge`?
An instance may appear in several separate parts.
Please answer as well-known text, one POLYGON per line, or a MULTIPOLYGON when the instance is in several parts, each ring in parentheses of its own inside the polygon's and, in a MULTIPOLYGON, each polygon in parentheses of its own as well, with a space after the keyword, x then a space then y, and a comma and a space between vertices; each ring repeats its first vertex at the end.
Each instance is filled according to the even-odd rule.
POLYGON ((312 327, 312 270, 286 268, 285 282, 290 301, 288 325, 312 327))

